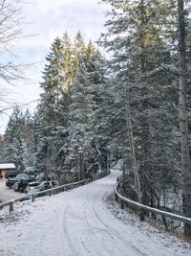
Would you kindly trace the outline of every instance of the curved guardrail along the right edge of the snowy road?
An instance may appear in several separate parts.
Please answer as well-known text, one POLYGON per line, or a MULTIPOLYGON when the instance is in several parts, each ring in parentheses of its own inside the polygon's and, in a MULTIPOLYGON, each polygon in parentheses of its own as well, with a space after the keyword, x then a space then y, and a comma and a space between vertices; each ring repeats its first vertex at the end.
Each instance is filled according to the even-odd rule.
POLYGON ((120 199, 122 209, 124 209, 124 202, 125 202, 125 203, 133 205, 133 206, 135 206, 139 209, 143 209, 147 212, 152 212, 152 213, 158 214, 158 215, 163 216, 163 217, 167 217, 167 218, 170 218, 170 219, 174 219, 174 220, 178 220, 178 221, 181 221, 181 222, 191 224, 191 219, 190 218, 187 218, 187 217, 184 217, 184 216, 181 216, 181 215, 177 215, 177 214, 173 214, 173 213, 169 213, 169 212, 165 212, 165 211, 161 211, 157 208, 146 206, 146 205, 141 204, 137 201, 133 201, 133 200, 128 199, 128 198, 124 198, 117 191, 119 183, 120 183, 120 181, 117 182, 117 186, 115 188, 115 197, 116 197, 117 202, 118 202, 118 198, 120 199))

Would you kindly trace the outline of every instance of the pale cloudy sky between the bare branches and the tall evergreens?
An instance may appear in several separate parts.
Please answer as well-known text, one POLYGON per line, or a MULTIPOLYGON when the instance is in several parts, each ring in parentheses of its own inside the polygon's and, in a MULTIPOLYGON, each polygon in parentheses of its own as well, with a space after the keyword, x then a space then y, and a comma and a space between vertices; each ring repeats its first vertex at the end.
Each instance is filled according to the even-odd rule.
MULTIPOLYGON (((16 54, 24 63, 37 62, 25 70, 29 81, 18 81, 10 86, 7 100, 10 103, 28 104, 39 98, 41 71, 53 39, 68 32, 71 38, 80 31, 84 39, 96 41, 104 31, 107 6, 98 0, 27 0, 23 4, 23 33, 28 36, 19 41, 16 54)), ((34 108, 35 103, 29 105, 34 108)), ((8 117, 0 116, 0 133, 3 132, 8 117)))

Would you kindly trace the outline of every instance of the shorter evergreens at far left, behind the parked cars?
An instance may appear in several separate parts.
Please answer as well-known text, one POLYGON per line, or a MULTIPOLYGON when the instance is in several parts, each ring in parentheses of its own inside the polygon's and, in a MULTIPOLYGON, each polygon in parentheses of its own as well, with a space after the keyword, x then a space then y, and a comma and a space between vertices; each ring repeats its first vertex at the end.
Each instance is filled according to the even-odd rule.
POLYGON ((2 162, 15 164, 18 172, 32 168, 33 159, 32 117, 29 110, 22 113, 18 106, 12 111, 4 135, 2 162))

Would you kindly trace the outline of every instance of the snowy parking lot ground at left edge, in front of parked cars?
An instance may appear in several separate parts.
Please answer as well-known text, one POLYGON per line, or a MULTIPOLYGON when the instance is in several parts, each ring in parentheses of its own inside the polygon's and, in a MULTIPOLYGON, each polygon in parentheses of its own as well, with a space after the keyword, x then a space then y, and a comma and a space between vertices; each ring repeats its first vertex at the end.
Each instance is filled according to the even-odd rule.
MULTIPOLYGON (((7 179, 0 179, 0 199, 3 201, 11 200, 13 198, 19 198, 23 194, 15 192, 6 186, 7 179)), ((1 256, 1 254, 0 254, 1 256)))

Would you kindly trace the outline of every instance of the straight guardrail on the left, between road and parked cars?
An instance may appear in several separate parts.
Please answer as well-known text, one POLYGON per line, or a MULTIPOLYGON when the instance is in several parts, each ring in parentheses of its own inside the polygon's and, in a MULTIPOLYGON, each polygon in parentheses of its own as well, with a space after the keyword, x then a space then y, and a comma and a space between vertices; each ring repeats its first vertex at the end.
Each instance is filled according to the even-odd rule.
POLYGON ((54 192, 58 192, 58 193, 59 192, 64 192, 64 191, 66 191, 67 188, 74 188, 77 185, 85 185, 85 184, 88 184, 89 182, 91 182, 91 179, 87 178, 87 179, 83 179, 83 180, 80 180, 80 181, 77 181, 77 182, 74 182, 74 183, 68 183, 68 184, 64 184, 64 185, 59 186, 59 187, 39 191, 39 192, 33 193, 31 195, 25 195, 25 196, 22 196, 22 197, 19 197, 19 198, 14 198, 14 199, 11 199, 9 201, 0 203, 0 209, 9 205, 10 206, 10 212, 12 212, 13 209, 14 209, 14 207, 13 207, 14 202, 25 200, 25 199, 30 199, 30 198, 32 198, 32 201, 34 201, 36 196, 39 196, 39 195, 52 196, 54 192))

